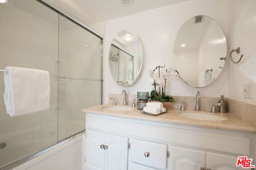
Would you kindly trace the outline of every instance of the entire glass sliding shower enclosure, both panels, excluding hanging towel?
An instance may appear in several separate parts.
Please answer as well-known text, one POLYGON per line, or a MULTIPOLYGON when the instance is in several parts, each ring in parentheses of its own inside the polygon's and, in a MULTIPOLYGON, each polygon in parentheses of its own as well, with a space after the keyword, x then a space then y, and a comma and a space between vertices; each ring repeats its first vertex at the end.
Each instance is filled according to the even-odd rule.
MULTIPOLYGON (((85 130, 81 109, 102 103, 102 38, 37 0, 0 4, 0 70, 47 70, 50 109, 10 117, 0 98, 0 169, 85 130)), ((4 73, 0 73, 0 96, 4 73)))

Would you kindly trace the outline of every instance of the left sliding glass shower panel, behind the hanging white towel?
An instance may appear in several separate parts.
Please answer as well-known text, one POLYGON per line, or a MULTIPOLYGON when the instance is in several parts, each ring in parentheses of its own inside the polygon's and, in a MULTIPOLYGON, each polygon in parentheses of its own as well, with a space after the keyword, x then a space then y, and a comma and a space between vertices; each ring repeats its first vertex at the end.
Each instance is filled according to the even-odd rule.
MULTIPOLYGON (((0 69, 18 66, 58 74, 58 14, 35 0, 0 4, 0 69)), ((0 167, 57 142, 58 78, 50 78, 50 109, 10 117, 0 97, 0 167)), ((0 74, 0 96, 4 74, 0 74)))

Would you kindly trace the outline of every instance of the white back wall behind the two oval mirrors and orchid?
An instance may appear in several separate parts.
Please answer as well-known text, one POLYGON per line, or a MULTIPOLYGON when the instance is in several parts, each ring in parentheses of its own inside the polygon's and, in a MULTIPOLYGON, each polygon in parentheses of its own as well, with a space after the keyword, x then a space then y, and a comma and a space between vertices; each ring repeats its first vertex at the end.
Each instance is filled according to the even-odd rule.
MULTIPOLYGON (((224 33, 227 33, 226 1, 223 0, 190 0, 91 25, 92 27, 95 26, 97 30, 102 29, 105 25, 105 102, 108 102, 108 94, 119 94, 123 89, 127 90, 129 94, 136 94, 137 91, 151 91, 152 80, 148 77, 148 70, 155 68, 158 64, 175 67, 173 46, 176 34, 185 21, 196 15, 214 18, 224 29, 224 33), (117 85, 108 68, 111 41, 116 33, 123 29, 136 33, 143 48, 142 71, 135 84, 130 87, 117 85)), ((228 70, 226 67, 215 82, 203 88, 193 88, 180 78, 174 77, 172 80, 167 80, 166 90, 167 94, 173 96, 195 96, 198 90, 202 96, 227 96, 227 78, 228 70)))

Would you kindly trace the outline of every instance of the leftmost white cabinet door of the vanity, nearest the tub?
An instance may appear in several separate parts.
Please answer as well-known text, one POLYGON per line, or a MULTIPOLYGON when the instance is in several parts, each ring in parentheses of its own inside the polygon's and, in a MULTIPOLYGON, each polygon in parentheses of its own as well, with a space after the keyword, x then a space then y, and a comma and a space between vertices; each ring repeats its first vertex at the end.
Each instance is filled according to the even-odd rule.
POLYGON ((86 130, 86 170, 104 170, 104 149, 100 145, 105 143, 105 133, 86 130))

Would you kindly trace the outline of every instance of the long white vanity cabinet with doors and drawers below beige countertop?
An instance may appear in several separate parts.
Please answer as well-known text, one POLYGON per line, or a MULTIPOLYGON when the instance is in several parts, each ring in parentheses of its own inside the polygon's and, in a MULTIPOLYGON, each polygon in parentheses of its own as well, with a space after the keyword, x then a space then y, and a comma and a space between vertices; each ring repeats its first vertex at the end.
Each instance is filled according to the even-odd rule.
POLYGON ((256 157, 254 133, 93 113, 83 140, 84 170, 242 170, 237 156, 256 157))

